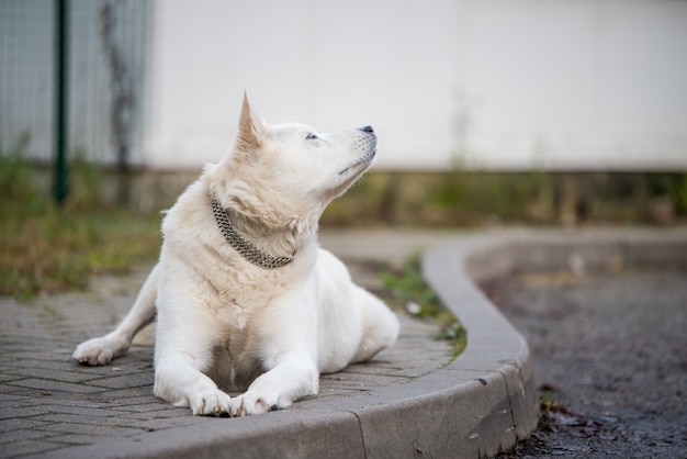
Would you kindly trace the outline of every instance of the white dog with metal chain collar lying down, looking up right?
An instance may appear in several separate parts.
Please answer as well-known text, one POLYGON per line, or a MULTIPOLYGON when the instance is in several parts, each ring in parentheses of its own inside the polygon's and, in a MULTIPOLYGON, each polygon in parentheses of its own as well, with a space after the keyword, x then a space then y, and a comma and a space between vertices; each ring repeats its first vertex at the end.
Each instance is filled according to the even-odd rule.
POLYGON ((74 358, 109 363, 157 315, 155 394, 196 415, 243 416, 316 394, 320 372, 393 345, 394 313, 316 239, 326 205, 375 148, 370 126, 269 125, 244 97, 234 147, 169 210, 159 262, 131 312, 74 358))

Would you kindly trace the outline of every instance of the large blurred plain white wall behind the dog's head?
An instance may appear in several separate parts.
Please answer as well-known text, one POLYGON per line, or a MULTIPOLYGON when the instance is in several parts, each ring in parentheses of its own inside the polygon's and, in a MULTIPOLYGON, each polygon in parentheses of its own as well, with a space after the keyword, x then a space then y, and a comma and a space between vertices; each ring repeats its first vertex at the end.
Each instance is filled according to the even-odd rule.
POLYGON ((150 55, 155 167, 217 160, 247 89, 379 168, 687 169, 685 1, 158 0, 150 55))

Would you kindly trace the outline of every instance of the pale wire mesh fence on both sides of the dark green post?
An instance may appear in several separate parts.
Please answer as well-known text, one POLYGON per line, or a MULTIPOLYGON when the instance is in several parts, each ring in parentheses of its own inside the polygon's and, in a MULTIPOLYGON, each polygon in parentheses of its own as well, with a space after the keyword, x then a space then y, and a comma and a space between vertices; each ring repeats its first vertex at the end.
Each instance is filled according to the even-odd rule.
MULTIPOLYGON (((55 1, 0 1, 0 154, 55 145, 55 1)), ((70 156, 136 161, 145 122, 149 1, 68 1, 70 156)))

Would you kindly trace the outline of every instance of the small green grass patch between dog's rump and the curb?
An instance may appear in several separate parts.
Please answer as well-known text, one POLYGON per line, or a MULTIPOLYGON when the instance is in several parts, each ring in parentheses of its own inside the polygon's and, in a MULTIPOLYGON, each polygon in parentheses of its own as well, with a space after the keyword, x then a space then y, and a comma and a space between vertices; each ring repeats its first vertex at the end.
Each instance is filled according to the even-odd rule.
POLYGON ((408 258, 401 269, 383 276, 384 287, 395 301, 419 317, 431 317, 441 326, 435 338, 450 340, 453 357, 460 356, 468 346, 468 333, 453 314, 446 310, 439 295, 427 283, 419 267, 419 257, 408 258))

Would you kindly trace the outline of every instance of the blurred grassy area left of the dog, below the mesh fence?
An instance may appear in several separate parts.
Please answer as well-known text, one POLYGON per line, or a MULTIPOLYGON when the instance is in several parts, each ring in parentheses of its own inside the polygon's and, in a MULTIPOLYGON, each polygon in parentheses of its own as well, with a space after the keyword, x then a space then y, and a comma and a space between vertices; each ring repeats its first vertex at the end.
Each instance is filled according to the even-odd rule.
POLYGON ((72 167, 63 208, 32 184, 20 154, 0 155, 0 295, 27 298, 83 288, 89 276, 127 272, 155 259, 160 215, 98 204, 93 167, 72 167))

